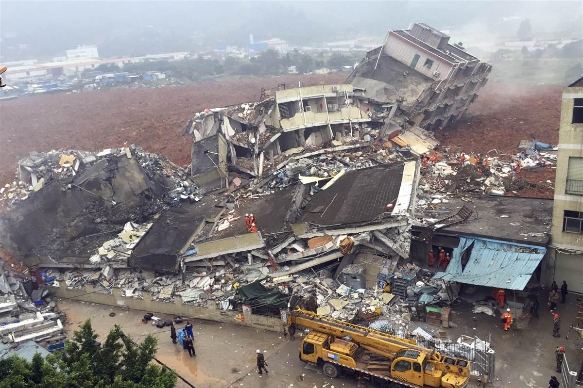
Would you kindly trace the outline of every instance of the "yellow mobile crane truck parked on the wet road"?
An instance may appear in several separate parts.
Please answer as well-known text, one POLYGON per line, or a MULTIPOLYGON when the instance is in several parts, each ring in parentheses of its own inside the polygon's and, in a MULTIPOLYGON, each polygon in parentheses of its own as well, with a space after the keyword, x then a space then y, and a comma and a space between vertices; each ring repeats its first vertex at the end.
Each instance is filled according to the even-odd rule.
POLYGON ((468 383, 467 359, 442 355, 413 340, 301 309, 287 314, 291 325, 311 329, 301 343, 300 360, 331 378, 344 372, 382 388, 462 388, 468 383))

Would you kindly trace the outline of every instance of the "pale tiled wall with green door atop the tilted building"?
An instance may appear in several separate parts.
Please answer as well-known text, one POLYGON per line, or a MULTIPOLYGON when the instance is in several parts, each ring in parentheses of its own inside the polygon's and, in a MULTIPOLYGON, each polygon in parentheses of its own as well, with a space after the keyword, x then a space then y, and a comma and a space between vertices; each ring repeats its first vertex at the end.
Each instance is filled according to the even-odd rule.
POLYGON ((405 38, 392 32, 389 33, 383 52, 391 55, 406 66, 411 65, 415 54, 418 54, 420 58, 417 61, 415 70, 433 80, 443 80, 447 78, 449 70, 452 67, 452 64, 446 60, 440 59, 437 55, 429 54, 429 52, 413 44, 413 42, 406 41, 405 38), (423 66, 426 59, 433 60, 433 66, 431 66, 431 69, 423 66), (437 77, 433 75, 435 72, 439 72, 437 77))

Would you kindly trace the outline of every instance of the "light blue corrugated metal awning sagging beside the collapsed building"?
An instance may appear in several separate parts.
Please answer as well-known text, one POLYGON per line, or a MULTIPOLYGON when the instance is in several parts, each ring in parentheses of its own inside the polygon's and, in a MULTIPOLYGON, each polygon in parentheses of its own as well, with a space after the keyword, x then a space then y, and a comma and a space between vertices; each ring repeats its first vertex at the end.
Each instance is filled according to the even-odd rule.
POLYGON ((546 248, 534 245, 470 237, 460 237, 459 245, 463 248, 472 247, 465 268, 462 270, 461 262, 458 263, 462 252, 454 252, 447 272, 438 272, 434 278, 476 286, 524 290, 546 253, 546 248))

